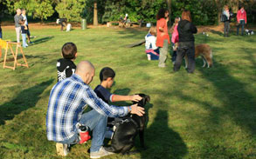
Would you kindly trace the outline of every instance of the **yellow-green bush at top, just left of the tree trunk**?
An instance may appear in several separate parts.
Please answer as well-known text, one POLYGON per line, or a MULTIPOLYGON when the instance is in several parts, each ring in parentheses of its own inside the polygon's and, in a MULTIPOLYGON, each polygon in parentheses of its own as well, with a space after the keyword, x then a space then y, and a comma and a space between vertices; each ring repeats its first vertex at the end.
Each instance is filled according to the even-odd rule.
POLYGON ((63 0, 55 10, 59 17, 66 17, 67 21, 80 22, 82 13, 86 7, 86 0, 63 0))

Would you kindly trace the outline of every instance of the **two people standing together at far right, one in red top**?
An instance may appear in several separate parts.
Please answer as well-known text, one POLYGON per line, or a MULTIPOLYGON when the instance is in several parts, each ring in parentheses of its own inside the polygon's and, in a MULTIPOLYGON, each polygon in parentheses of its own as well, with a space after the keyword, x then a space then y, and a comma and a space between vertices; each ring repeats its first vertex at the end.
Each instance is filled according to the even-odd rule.
MULTIPOLYGON (((221 14, 221 22, 224 23, 224 36, 229 36, 230 22, 232 19, 232 12, 229 10, 229 6, 225 5, 221 14)), ((239 28, 241 28, 241 35, 244 35, 245 24, 247 23, 246 10, 244 6, 240 6, 237 13, 237 36, 239 36, 239 28)))

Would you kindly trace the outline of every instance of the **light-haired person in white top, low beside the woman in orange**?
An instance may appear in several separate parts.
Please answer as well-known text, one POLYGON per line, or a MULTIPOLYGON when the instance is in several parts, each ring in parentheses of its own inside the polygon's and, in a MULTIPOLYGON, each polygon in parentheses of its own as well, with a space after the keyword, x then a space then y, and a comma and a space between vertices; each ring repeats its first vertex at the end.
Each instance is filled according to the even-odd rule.
POLYGON ((156 46, 156 27, 152 26, 149 30, 149 34, 145 36, 145 47, 148 60, 158 60, 159 50, 156 46))

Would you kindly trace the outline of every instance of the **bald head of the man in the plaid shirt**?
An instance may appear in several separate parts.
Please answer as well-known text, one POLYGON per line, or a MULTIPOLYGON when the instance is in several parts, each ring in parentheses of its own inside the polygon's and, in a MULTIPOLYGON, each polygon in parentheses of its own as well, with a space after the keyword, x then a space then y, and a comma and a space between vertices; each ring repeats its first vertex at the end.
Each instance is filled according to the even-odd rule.
POLYGON ((93 81, 95 69, 92 63, 88 61, 81 61, 77 65, 75 73, 83 79, 84 83, 89 84, 93 81))

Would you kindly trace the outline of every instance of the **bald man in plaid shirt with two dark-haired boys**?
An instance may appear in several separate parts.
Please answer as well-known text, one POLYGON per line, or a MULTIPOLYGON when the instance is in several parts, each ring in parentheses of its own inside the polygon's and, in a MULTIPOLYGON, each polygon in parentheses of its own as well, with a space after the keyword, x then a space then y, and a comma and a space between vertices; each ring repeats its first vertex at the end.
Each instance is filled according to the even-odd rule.
POLYGON ((92 145, 90 158, 100 158, 113 153, 103 147, 105 138, 111 138, 113 129, 107 129, 107 117, 121 117, 128 113, 142 116, 144 109, 137 104, 117 107, 109 102, 140 101, 141 96, 120 96, 109 92, 114 83, 115 72, 105 67, 100 71, 100 84, 93 90, 88 85, 93 81, 95 69, 92 63, 81 61, 77 66, 73 61, 77 57, 74 43, 65 43, 62 56, 57 61, 58 83, 51 90, 47 115, 47 139, 57 142, 56 149, 60 156, 66 156, 71 144, 83 143, 90 139, 92 145), (86 113, 86 104, 91 108, 86 113), (81 129, 81 126, 86 129, 81 129), (82 133, 83 132, 83 133, 82 133))

